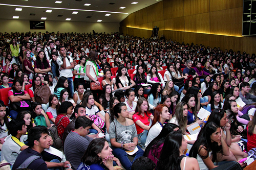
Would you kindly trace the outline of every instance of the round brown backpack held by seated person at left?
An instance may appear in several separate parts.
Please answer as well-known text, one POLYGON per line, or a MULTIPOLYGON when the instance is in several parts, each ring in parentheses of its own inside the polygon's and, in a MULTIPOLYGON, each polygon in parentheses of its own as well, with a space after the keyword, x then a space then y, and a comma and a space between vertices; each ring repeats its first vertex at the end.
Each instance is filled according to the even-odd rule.
POLYGON ((40 104, 49 103, 49 98, 52 94, 49 87, 47 87, 46 85, 42 85, 40 87, 37 87, 34 93, 36 102, 39 102, 40 104))

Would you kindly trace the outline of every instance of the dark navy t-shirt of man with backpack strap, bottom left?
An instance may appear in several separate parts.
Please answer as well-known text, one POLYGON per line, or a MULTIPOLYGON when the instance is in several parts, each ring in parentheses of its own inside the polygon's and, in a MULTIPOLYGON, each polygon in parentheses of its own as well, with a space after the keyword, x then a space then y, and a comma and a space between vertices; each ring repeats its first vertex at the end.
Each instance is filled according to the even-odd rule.
MULTIPOLYGON (((42 155, 39 152, 32 150, 31 148, 27 148, 18 155, 16 161, 13 164, 12 169, 18 168, 19 165, 21 165, 27 158, 29 158, 32 155, 42 157, 42 155)), ((47 170, 47 164, 42 158, 39 158, 31 162, 27 168, 31 170, 47 170)))

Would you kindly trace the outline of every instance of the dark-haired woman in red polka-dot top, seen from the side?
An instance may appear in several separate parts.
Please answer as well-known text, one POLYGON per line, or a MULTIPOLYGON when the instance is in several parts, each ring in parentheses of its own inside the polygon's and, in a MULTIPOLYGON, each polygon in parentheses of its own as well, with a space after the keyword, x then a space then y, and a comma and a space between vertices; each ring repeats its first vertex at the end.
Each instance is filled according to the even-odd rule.
POLYGON ((59 114, 55 119, 55 125, 57 126, 57 131, 60 139, 62 139, 65 128, 69 125, 70 120, 67 115, 71 115, 73 112, 73 104, 71 102, 63 102, 58 110, 59 114), (63 117, 63 118, 62 118, 63 117), (62 118, 62 119, 61 119, 62 118), (61 119, 61 120, 60 120, 61 119), (60 120, 60 122, 59 122, 60 120), (59 124, 58 124, 59 122, 59 124))

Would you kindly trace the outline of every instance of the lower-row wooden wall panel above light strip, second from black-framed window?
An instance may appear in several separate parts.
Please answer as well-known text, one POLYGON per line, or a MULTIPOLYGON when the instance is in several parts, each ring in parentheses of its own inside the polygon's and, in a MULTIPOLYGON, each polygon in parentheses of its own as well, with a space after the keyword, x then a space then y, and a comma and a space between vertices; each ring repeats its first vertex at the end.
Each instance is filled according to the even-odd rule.
POLYGON ((185 16, 184 31, 210 33, 210 13, 185 16))

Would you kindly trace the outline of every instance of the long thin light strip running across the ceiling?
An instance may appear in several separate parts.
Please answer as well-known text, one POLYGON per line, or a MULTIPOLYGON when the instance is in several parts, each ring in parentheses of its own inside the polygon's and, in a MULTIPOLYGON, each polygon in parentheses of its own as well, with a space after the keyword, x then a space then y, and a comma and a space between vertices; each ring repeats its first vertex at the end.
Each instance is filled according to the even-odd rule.
POLYGON ((27 6, 27 5, 12 5, 12 4, 0 4, 0 6, 9 6, 9 7, 24 7, 24 8, 40 8, 40 9, 57 9, 57 10, 72 10, 72 11, 90 11, 90 12, 104 12, 104 13, 116 13, 116 14, 129 14, 125 12, 113 12, 113 11, 98 11, 98 10, 86 10, 86 9, 71 9, 71 8, 54 8, 54 7, 36 7, 36 6, 27 6))

